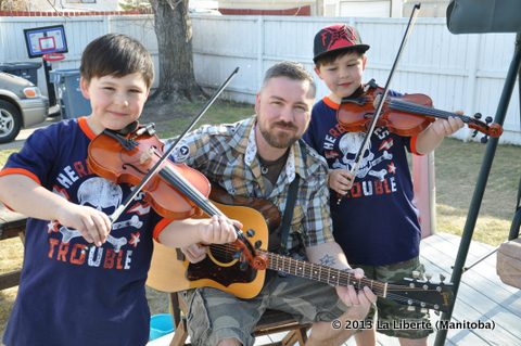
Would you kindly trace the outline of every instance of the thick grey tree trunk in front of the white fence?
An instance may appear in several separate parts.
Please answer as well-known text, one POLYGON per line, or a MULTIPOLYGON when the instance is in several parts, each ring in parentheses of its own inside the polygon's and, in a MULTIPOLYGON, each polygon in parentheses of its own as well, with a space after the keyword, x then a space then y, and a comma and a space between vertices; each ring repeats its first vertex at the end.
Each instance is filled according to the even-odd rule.
POLYGON ((204 95, 195 82, 189 0, 150 0, 160 53, 160 85, 153 98, 192 101, 204 95))

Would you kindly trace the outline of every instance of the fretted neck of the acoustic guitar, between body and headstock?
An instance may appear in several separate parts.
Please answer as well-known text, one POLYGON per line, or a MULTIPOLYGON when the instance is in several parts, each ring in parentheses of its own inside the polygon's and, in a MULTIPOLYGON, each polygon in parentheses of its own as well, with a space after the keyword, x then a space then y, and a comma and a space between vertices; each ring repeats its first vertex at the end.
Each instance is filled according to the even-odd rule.
POLYGON ((340 269, 312 264, 274 253, 262 253, 268 258, 268 269, 287 272, 295 277, 327 283, 333 286, 353 285, 357 290, 368 286, 376 295, 386 297, 387 283, 366 278, 356 279, 351 272, 340 269))

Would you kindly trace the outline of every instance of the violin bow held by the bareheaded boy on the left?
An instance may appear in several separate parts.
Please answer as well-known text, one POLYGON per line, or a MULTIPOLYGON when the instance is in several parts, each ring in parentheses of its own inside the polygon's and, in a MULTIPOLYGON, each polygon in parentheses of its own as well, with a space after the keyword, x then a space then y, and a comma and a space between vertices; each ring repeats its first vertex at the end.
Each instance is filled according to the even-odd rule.
POLYGON ((147 175, 143 177, 141 182, 136 185, 136 188, 132 190, 132 192, 125 198, 125 201, 114 210, 114 213, 109 216, 111 221, 115 221, 119 218, 119 216, 127 209, 127 207, 130 205, 130 203, 134 201, 134 198, 138 195, 139 192, 143 189, 143 187, 152 179, 152 177, 160 171, 161 165, 165 162, 165 159, 170 156, 171 152, 176 148, 177 143, 190 131, 195 123, 201 119, 201 117, 208 111, 209 106, 217 100, 217 98, 223 93, 225 88, 230 84, 231 79, 237 75, 239 72, 239 67, 236 67, 233 72, 228 76, 228 78, 223 82, 223 85, 217 89, 212 98, 206 102, 204 107, 199 112, 198 116, 190 123, 190 125, 187 127, 187 129, 177 138, 177 140, 174 142, 174 144, 170 145, 170 148, 165 151, 163 156, 155 163, 155 165, 147 172, 147 175))

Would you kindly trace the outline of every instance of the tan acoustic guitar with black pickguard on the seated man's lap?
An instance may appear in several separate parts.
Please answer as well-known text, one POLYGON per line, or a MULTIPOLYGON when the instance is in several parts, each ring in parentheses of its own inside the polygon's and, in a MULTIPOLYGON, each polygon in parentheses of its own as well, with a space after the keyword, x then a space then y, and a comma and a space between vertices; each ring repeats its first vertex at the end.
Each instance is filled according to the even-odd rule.
MULTIPOLYGON (((214 184, 215 185, 215 184, 214 184)), ((214 189, 213 185, 213 189, 214 189)), ((215 200, 215 195, 212 195, 215 200)), ((223 202, 223 197, 219 197, 223 202)), ((225 203, 237 203, 237 197, 227 196, 225 203), (236 198, 234 201, 230 198, 236 198)), ((264 209, 275 205, 264 200, 247 198, 246 205, 258 207, 259 201, 264 209)), ((369 286, 371 291, 384 298, 421 309, 447 312, 453 300, 450 283, 433 283, 429 280, 404 279, 401 282, 386 283, 370 279, 355 279, 350 272, 331 267, 294 259, 266 251, 268 244, 268 225, 275 227, 280 222, 274 216, 265 217, 266 212, 244 205, 214 204, 229 218, 241 221, 250 242, 257 255, 267 259, 267 269, 277 270, 300 278, 327 283, 330 285, 354 285, 355 289, 369 286)), ((278 209, 277 209, 278 212, 278 209)), ((243 256, 229 244, 212 244, 207 256, 198 264, 183 259, 179 249, 174 249, 154 242, 151 270, 148 284, 164 292, 178 292, 195 287, 209 286, 233 294, 239 298, 255 297, 264 285, 265 270, 256 270, 249 266, 243 256)))

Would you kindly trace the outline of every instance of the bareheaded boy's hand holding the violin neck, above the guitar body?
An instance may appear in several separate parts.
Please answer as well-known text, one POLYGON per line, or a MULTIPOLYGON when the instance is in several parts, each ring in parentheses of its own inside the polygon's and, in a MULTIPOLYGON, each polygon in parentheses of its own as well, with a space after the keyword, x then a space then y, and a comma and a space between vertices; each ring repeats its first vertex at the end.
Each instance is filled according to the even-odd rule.
POLYGON ((204 244, 226 244, 237 240, 234 227, 242 228, 242 223, 230 220, 225 216, 214 215, 199 228, 199 235, 204 244))

